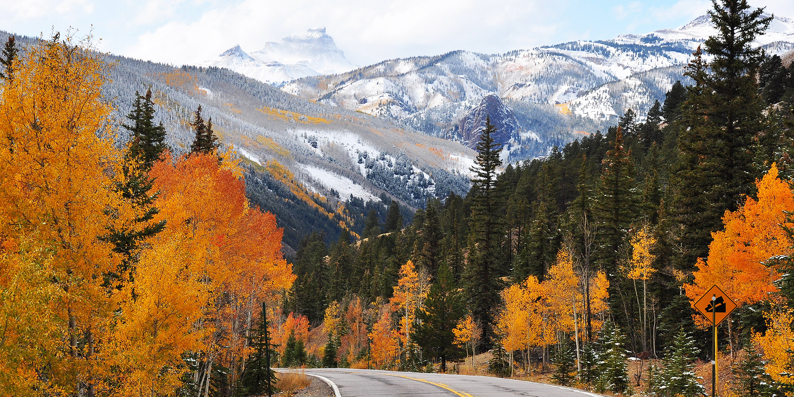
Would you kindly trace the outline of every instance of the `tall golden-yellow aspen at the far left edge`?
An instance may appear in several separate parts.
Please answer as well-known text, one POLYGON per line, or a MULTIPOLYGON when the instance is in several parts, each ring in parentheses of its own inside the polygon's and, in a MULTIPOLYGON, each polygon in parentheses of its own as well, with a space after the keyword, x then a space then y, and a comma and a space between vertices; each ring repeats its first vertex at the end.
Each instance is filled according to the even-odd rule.
POLYGON ((136 215, 114 188, 125 159, 102 98, 109 67, 91 37, 56 35, 12 68, 0 88, 0 394, 106 393, 113 355, 98 355, 117 302, 105 276, 121 257, 98 237, 136 215))

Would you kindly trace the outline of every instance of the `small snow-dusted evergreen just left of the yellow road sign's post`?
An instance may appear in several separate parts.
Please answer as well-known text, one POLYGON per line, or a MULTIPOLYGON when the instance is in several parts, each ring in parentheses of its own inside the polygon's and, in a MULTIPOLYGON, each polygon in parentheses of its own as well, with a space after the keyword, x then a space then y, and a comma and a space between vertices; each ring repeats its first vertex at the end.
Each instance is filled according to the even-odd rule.
POLYGON ((706 389, 695 375, 694 361, 700 353, 695 341, 683 328, 676 333, 673 345, 665 352, 662 368, 654 368, 653 381, 649 391, 653 395, 664 397, 700 397, 706 389))

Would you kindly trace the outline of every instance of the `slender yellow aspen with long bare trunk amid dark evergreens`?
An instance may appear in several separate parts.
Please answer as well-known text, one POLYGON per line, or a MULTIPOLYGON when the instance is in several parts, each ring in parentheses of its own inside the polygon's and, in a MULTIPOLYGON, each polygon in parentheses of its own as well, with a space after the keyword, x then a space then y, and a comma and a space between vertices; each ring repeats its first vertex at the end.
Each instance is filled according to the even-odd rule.
POLYGON ((634 296, 637 298, 637 310, 642 322, 642 351, 648 350, 648 280, 657 272, 653 268, 656 255, 651 252, 656 246, 656 237, 653 237, 648 225, 631 237, 631 259, 623 271, 626 277, 634 282, 634 296), (642 281, 642 304, 637 289, 637 281, 642 281))

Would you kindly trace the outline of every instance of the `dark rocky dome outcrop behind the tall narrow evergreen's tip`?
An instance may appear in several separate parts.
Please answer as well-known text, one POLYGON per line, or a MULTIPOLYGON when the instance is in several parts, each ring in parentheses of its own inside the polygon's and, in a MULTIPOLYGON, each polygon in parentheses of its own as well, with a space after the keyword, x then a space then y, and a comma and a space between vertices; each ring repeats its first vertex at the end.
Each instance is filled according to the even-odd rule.
POLYGON ((504 145, 511 138, 518 137, 520 128, 513 110, 499 99, 499 95, 488 94, 480 101, 480 105, 468 110, 455 126, 457 136, 463 145, 476 148, 488 117, 491 118, 491 124, 496 127, 496 132, 493 134, 496 143, 504 145))

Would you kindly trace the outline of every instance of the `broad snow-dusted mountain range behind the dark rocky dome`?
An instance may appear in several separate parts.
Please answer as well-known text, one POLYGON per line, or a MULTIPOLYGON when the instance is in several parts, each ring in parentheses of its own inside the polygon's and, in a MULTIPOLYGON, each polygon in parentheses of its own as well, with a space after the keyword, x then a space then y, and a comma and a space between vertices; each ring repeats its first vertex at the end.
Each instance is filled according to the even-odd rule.
MULTIPOLYGON (((703 16, 678 29, 613 40, 387 60, 340 75, 296 79, 282 89, 464 144, 456 126, 484 97, 496 94, 515 112, 519 135, 533 138, 511 148, 511 160, 522 160, 577 133, 615 124, 628 109, 643 118, 654 100, 663 100, 684 79, 692 52, 714 33, 703 16)), ((794 49, 794 21, 776 16, 757 44, 768 54, 794 49)))

